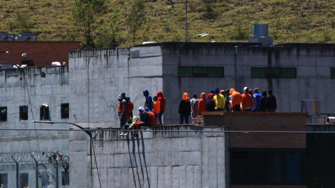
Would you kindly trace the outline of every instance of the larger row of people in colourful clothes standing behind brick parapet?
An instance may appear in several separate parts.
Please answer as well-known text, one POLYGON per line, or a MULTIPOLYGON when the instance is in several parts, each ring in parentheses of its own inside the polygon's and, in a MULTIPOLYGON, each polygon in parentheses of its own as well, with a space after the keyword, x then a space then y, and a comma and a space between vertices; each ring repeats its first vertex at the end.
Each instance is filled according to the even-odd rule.
POLYGON ((188 116, 192 120, 201 115, 203 111, 271 111, 277 109, 276 97, 272 95, 272 90, 263 91, 262 95, 258 93, 258 88, 254 90, 244 87, 243 94, 235 91, 234 88, 215 91, 212 89, 207 95, 201 93, 200 100, 197 94, 193 94, 193 99, 189 99, 188 93, 184 93, 182 100, 179 102, 178 113, 180 114, 179 123, 188 124, 188 116))

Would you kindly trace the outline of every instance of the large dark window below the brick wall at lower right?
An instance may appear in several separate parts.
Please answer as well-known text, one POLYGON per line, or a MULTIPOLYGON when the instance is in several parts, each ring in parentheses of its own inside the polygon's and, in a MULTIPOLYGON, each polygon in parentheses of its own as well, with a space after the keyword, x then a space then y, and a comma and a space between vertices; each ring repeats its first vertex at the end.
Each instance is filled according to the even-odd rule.
POLYGON ((232 185, 300 185, 301 156, 297 151, 232 151, 232 185))

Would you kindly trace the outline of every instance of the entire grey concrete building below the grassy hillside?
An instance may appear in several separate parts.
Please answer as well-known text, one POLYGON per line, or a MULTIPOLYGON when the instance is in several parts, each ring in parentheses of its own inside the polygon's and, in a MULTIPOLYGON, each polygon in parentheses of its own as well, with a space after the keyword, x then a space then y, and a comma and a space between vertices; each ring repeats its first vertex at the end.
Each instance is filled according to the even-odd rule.
MULTIPOLYGON (((310 140, 306 141, 306 136, 298 136, 299 140, 279 136, 275 141, 270 140, 268 144, 262 145, 253 139, 255 135, 243 140, 243 136, 232 137, 231 134, 228 139, 225 133, 217 133, 214 136, 210 133, 196 132, 187 134, 146 132, 143 137, 140 137, 143 138, 142 140, 133 141, 120 139, 117 132, 110 132, 115 127, 119 127, 117 95, 121 92, 129 95, 135 106, 134 112, 137 112, 138 107, 144 105, 142 95, 144 89, 148 89, 152 96, 158 91, 163 91, 167 100, 163 115, 165 125, 179 123, 177 108, 184 92, 189 95, 193 93, 200 95, 202 92, 208 94, 214 88, 236 88, 237 91, 241 91, 244 86, 258 87, 260 91, 272 88, 277 97, 277 112, 298 112, 299 100, 306 99, 320 100, 321 112, 333 113, 335 111, 335 101, 332 97, 334 88, 329 87, 335 84, 333 66, 335 51, 332 46, 281 44, 273 47, 260 47, 260 43, 190 42, 179 51, 180 45, 180 42, 163 42, 131 48, 70 51, 68 66, 25 68, 26 78, 18 69, 0 70, 0 93, 3 93, 0 95, 0 109, 1 111, 6 109, 6 120, 1 115, 0 128, 54 129, 20 132, 2 130, 1 155, 15 156, 15 153, 21 153, 23 156, 24 153, 35 152, 38 153, 38 156, 42 156, 44 152, 50 157, 54 155, 55 150, 59 150, 63 155, 68 155, 70 160, 71 187, 96 187, 98 185, 97 174, 89 137, 84 132, 70 132, 69 134, 61 131, 69 128, 67 123, 69 122, 82 127, 104 130, 97 134, 96 141, 94 141, 98 166, 99 169, 101 168, 101 180, 106 180, 107 177, 114 178, 112 179, 114 181, 102 182, 104 186, 149 187, 150 183, 151 187, 155 185, 159 187, 163 185, 163 181, 164 185, 167 182, 166 187, 170 185, 175 187, 237 187, 232 183, 233 179, 230 177, 232 171, 229 170, 228 162, 232 154, 228 155, 228 150, 244 152, 248 156, 251 156, 251 152, 247 149, 255 146, 260 146, 262 152, 268 148, 298 149, 299 153, 301 150, 303 152, 314 151, 308 148, 310 140), (26 79, 27 84, 25 84, 26 79), (33 123, 32 120, 52 120, 64 124, 38 124, 33 123), (280 143, 285 139, 289 140, 288 143, 281 145, 280 143), (257 144, 250 147, 239 146, 237 144, 239 141, 250 141, 257 144), (295 143, 295 146, 292 146, 292 142, 295 143), (221 147, 220 143, 224 143, 225 147, 221 147), (163 146, 166 149, 165 153, 163 146), (265 146, 263 147, 265 150, 261 146, 265 146), (147 155, 141 147, 145 147, 147 155), (216 156, 213 161, 212 156, 216 156), (191 181, 186 182, 186 180, 191 181)), ((284 116, 280 114, 277 113, 272 118, 284 116)), ((230 125, 234 120, 226 121, 228 116, 230 115, 227 114, 222 119, 220 115, 221 118, 218 118, 219 122, 216 122, 218 125, 215 125, 217 126, 215 128, 193 125, 156 129, 229 130, 231 126, 239 127, 239 125, 230 125)), ((290 116, 296 115, 291 114, 290 116)), ((303 130, 301 126, 306 125, 306 118, 302 120, 302 113, 299 117, 299 120, 295 120, 295 124, 290 126, 294 127, 299 124, 297 129, 303 130)), ((233 118, 241 117, 234 116, 233 118)), ((251 117, 242 118, 248 120, 251 117)), ((290 127, 292 129, 285 127, 291 117, 286 114, 285 118, 281 125, 278 125, 281 130, 295 130, 292 127, 290 127)), ((255 119, 250 121, 253 120, 255 119)), ((255 123, 259 122, 255 120, 255 123)), ((204 125, 209 124, 207 122, 204 125)), ((70 128, 74 127, 70 125, 70 128)), ((317 127, 311 125, 310 128, 315 130, 317 127)), ((327 127, 324 131, 327 131, 327 127)), ((310 137, 312 141, 313 136, 308 137, 307 135, 307 138, 310 137)), ((326 140, 331 141, 331 138, 327 137, 326 140)), ((325 151, 327 148, 322 150, 325 151)), ((302 155, 299 154, 299 156, 302 155)), ((15 159, 18 158, 20 157, 15 159)), ((42 158, 41 163, 46 166, 45 168, 43 166, 43 169, 49 169, 45 171, 50 177, 58 175, 58 185, 63 185, 61 178, 66 172, 64 168, 60 166, 56 168, 54 166, 56 162, 49 164, 48 158, 42 158), (48 167, 47 164, 50 166, 48 167)), ((318 162, 321 159, 319 157, 318 162)), ((7 160, 1 164, 0 159, 0 165, 5 166, 0 168, 0 177, 1 174, 10 174, 7 177, 12 179, 8 178, 8 185, 10 182, 10 187, 13 187, 15 180, 17 182, 20 179, 20 173, 32 173, 28 178, 29 187, 40 185, 42 180, 41 178, 36 180, 34 159, 27 159, 22 163, 27 164, 27 169, 22 169, 22 171, 19 169, 19 175, 16 177, 13 176, 15 161, 8 163, 7 160), (14 167, 7 168, 8 165, 14 167)), ((313 168, 313 170, 322 170, 315 166, 313 168)), ((327 175, 332 177, 332 172, 318 173, 318 175, 327 179, 327 175)), ((310 174, 308 177, 317 178, 318 175, 310 174)), ((25 176, 22 174, 22 177, 25 176)), ((308 180, 304 175, 299 177, 302 178, 299 185, 285 184, 283 186, 306 187, 305 185, 315 183, 306 183, 308 180)), ((52 183, 51 180, 56 179, 50 178, 49 183, 52 183)), ((315 186, 320 185, 320 181, 318 180, 315 186)), ((329 181, 325 180, 325 182, 329 181)), ((52 186, 57 187, 55 181, 52 186)), ((255 185, 252 186, 255 187, 255 185)))

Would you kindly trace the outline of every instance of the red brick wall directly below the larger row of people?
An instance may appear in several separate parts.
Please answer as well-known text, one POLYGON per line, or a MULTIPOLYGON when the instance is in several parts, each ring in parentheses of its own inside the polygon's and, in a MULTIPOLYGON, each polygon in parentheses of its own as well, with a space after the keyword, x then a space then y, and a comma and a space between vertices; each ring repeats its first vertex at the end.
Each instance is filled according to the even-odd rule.
MULTIPOLYGON (((195 120, 205 127, 229 127, 231 148, 306 148, 305 133, 248 131, 306 131, 306 113, 206 112, 195 120)), ((226 130, 226 129, 225 129, 226 130)))

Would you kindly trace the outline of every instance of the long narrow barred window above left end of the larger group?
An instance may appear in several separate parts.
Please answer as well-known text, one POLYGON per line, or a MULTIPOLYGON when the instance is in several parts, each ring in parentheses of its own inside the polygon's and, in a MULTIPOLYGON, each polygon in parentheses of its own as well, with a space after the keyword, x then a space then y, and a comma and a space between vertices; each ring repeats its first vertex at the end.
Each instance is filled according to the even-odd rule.
POLYGON ((178 77, 214 77, 223 78, 222 67, 178 67, 178 77))

